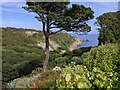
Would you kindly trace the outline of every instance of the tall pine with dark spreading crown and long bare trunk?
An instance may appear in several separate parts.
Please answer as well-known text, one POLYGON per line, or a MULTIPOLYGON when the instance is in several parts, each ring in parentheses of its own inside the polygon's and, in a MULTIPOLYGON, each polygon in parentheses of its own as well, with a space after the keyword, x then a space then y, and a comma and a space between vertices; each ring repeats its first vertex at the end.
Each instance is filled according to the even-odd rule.
POLYGON ((27 6, 23 8, 28 12, 36 13, 38 16, 35 18, 43 24, 43 33, 46 42, 46 56, 43 63, 43 72, 45 72, 49 60, 49 35, 56 34, 63 30, 82 32, 83 34, 90 32, 91 27, 87 25, 86 21, 94 18, 94 11, 92 11, 91 8, 77 4, 72 4, 72 7, 68 8, 67 5, 70 4, 70 2, 36 1, 37 0, 32 0, 32 2, 26 1, 27 6), (53 32, 53 28, 58 28, 59 30, 53 32))

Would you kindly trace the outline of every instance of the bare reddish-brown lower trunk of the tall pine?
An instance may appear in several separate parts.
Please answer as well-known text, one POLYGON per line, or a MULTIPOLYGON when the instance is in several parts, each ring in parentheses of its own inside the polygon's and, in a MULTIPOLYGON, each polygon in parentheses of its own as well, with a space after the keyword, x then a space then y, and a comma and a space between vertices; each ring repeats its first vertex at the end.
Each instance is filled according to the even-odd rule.
POLYGON ((45 42, 46 42, 46 49, 45 49, 45 60, 43 63, 43 72, 47 71, 47 64, 49 60, 49 34, 48 33, 45 36, 45 42))

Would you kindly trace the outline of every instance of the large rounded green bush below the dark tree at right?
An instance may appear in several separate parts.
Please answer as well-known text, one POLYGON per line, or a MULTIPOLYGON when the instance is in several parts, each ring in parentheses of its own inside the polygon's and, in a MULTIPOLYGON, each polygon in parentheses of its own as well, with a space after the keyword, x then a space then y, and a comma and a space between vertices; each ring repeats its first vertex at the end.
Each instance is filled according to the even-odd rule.
POLYGON ((87 53, 84 64, 92 70, 93 67, 99 67, 103 71, 119 70, 120 52, 118 44, 106 44, 92 48, 87 53))

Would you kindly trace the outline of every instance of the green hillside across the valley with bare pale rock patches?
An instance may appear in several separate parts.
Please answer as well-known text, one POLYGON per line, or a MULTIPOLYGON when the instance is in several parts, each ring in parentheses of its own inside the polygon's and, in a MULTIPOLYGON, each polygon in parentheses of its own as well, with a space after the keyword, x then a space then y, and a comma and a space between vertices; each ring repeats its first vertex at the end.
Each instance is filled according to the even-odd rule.
MULTIPOLYGON (((3 81, 27 75, 36 67, 42 67, 45 56, 45 39, 42 31, 11 27, 1 28, 1 30, 3 81)), ((79 39, 80 42, 76 46, 81 44, 82 40, 79 39)), ((72 45, 75 43, 76 38, 67 33, 50 36, 50 61, 58 57, 61 51, 65 52, 73 48, 72 45)))

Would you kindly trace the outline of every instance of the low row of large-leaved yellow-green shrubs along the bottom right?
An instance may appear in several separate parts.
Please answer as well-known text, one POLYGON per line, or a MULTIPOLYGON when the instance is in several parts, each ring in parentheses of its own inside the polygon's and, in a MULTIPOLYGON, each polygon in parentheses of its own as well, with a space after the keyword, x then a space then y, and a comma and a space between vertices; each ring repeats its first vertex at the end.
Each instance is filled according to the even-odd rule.
POLYGON ((118 88, 116 73, 104 72, 98 67, 89 71, 86 66, 77 65, 66 67, 61 70, 60 77, 56 80, 59 88, 118 88), (114 82, 114 83, 113 83, 114 82), (116 84, 116 86, 114 86, 116 84))

